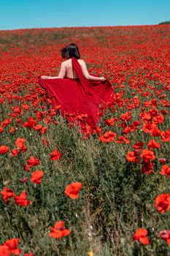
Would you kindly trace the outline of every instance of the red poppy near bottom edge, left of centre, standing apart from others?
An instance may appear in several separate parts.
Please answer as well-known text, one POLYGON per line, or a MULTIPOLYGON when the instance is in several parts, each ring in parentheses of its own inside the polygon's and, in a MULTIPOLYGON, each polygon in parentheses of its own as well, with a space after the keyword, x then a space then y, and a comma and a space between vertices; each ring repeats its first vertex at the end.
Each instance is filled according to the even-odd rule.
POLYGON ((61 220, 60 222, 56 222, 54 227, 49 227, 51 230, 49 233, 50 237, 54 238, 62 238, 63 236, 69 236, 70 230, 67 230, 64 227, 64 222, 61 220))

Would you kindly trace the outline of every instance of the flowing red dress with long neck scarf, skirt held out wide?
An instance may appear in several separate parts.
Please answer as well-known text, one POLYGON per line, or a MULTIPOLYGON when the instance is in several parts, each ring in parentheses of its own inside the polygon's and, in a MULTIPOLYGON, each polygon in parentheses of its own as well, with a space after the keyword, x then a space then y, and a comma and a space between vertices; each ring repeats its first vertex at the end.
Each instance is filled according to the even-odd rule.
POLYGON ((77 116, 88 114, 84 122, 80 121, 80 126, 88 124, 95 129, 99 121, 99 105, 103 105, 112 98, 111 83, 109 80, 86 79, 79 62, 74 57, 72 57, 72 66, 78 78, 44 80, 39 76, 39 85, 47 91, 53 108, 61 105, 62 116, 68 118, 69 121, 77 121, 77 116))

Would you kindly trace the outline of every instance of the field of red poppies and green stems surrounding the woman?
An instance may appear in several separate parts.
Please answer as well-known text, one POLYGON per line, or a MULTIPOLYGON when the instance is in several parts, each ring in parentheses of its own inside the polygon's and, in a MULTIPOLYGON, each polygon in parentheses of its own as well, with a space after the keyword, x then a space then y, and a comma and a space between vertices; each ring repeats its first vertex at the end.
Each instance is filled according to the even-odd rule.
POLYGON ((170 25, 0 31, 0 256, 170 255, 170 25), (79 46, 112 83, 93 133, 39 75, 79 46), (72 113, 69 113, 72 116, 72 113))

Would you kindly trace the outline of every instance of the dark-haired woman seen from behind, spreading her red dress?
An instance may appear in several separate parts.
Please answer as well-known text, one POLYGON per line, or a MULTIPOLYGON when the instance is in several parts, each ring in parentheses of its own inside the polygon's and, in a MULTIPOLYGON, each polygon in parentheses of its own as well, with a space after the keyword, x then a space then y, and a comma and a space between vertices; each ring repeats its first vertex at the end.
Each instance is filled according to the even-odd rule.
POLYGON ((39 85, 47 91, 53 108, 61 105, 61 114, 69 121, 80 121, 95 129, 99 105, 111 99, 113 91, 107 78, 90 75, 80 51, 71 43, 61 50, 61 69, 57 77, 39 76, 39 85), (85 117, 80 118, 80 116, 85 117))

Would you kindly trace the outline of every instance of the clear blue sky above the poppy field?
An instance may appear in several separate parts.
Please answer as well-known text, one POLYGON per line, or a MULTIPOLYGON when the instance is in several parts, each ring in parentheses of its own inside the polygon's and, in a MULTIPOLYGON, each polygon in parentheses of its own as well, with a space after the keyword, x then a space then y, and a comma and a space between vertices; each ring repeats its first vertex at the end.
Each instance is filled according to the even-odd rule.
POLYGON ((0 30, 153 25, 170 20, 170 0, 0 0, 0 30))

